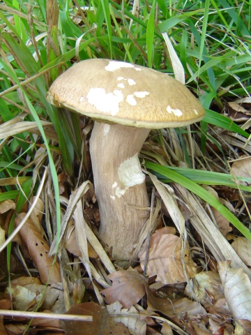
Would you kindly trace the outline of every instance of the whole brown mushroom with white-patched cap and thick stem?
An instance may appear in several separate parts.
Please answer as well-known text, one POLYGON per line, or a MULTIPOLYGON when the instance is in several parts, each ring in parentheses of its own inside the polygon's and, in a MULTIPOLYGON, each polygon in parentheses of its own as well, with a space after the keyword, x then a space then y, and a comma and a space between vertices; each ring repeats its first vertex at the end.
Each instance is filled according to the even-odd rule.
POLYGON ((95 120, 90 154, 100 238, 115 260, 136 258, 135 247, 149 217, 139 151, 151 129, 200 121, 204 108, 169 75, 108 59, 70 67, 52 83, 47 100, 95 120))

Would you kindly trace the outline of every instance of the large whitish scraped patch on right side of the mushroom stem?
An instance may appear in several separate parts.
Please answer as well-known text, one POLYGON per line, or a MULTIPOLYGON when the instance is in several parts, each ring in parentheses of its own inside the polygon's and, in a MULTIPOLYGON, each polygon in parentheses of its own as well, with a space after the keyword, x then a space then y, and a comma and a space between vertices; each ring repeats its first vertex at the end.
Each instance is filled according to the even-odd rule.
POLYGON ((126 188, 144 183, 145 175, 142 172, 137 154, 119 165, 118 176, 126 188))

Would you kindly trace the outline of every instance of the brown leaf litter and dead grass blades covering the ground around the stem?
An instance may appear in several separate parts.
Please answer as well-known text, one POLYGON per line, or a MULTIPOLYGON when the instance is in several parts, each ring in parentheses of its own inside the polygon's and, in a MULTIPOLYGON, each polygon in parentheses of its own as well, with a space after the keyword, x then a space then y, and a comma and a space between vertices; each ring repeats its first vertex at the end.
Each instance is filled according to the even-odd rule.
MULTIPOLYGON (((229 116, 240 124, 245 122, 243 127, 248 128, 250 101, 245 108, 241 104, 241 101, 228 103, 229 116)), ((42 124, 47 137, 56 142, 52 124, 47 121, 42 124)), ((40 134, 36 123, 23 118, 1 126, 6 141, 9 136, 28 130, 33 135, 40 134)), ((222 132, 217 127, 213 131, 227 154, 231 151, 229 145, 250 154, 250 144, 244 137, 222 132)), ((162 131, 161 140, 153 140, 158 135, 152 133, 142 156, 151 157, 161 165, 168 162, 186 167, 177 133, 162 131)), ((193 164, 225 171, 225 163, 218 159, 218 147, 211 145, 206 155, 201 154, 196 136, 196 133, 194 137, 183 134, 188 154, 192 156, 193 149, 196 151, 193 164)), ((54 154, 60 179, 62 162, 54 154)), ((236 151, 231 154, 238 156, 236 151)), ((250 157, 238 158, 231 165, 233 179, 235 176, 250 178, 250 157)), ((40 166, 47 165, 45 151, 36 163, 34 175, 38 176, 40 166)), ((146 173, 156 189, 155 212, 153 222, 148 223, 142 234, 139 243, 142 248, 134 269, 114 265, 98 239, 91 181, 82 180, 78 188, 67 179, 61 182, 62 225, 60 238, 56 239, 54 194, 50 176, 47 177, 42 195, 37 199, 38 207, 31 211, 19 236, 13 240, 13 245, 19 244, 22 251, 21 257, 17 248, 12 250, 16 258, 19 255, 21 266, 10 262, 10 272, 6 269, 0 272, 1 287, 5 288, 0 294, 0 308, 20 311, 18 316, 5 317, 4 322, 0 319, 1 334, 250 334, 250 241, 236 236, 238 232, 229 221, 223 220, 219 211, 209 208, 183 186, 176 183, 167 186, 150 172, 146 173), (92 215, 86 215, 87 209, 92 215), (146 244, 144 239, 151 232, 150 243, 146 244), (26 314, 22 314, 24 311, 66 313, 73 320, 48 321, 41 317, 29 325, 26 314), (93 320, 74 320, 76 315, 91 315, 93 320)), ((248 194, 241 196, 231 188, 212 187, 234 214, 246 215, 243 204, 249 209, 248 194)), ((0 203, 1 230, 6 236, 10 235, 11 223, 18 227, 26 217, 32 202, 30 198, 16 213, 17 199, 0 203)), ((4 241, 1 238, 2 244, 4 241)), ((5 252, 0 255, 1 262, 5 252)))

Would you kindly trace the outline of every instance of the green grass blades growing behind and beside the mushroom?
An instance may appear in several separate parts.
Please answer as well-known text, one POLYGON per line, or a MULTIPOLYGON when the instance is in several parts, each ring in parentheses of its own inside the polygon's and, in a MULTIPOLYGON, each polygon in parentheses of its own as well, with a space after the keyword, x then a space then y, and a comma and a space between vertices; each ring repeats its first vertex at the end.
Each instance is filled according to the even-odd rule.
MULTIPOLYGON (((54 237, 61 225, 59 174, 66 171, 73 190, 91 177, 86 154, 90 120, 56 109, 45 98, 48 87, 63 70, 75 61, 109 58, 175 76, 174 64, 178 59, 185 84, 204 105, 206 117, 197 127, 192 127, 192 132, 186 128, 174 133, 167 130, 165 135, 152 132, 153 147, 158 146, 162 154, 155 154, 146 146, 142 151, 145 167, 162 181, 175 181, 199 195, 251 240, 250 231, 239 218, 200 186, 238 188, 227 161, 250 154, 245 150, 250 133, 227 117, 225 106, 229 101, 250 97, 251 2, 153 0, 139 3, 139 8, 134 6, 136 1, 9 0, 0 3, 0 135, 3 134, 0 201, 15 200, 15 211, 21 211, 26 199, 38 190, 43 166, 49 165, 47 182, 52 185, 54 205, 51 208, 56 208, 56 215, 50 208, 47 211, 51 214, 54 237), (168 51, 164 33, 172 43, 173 54, 168 51), (34 122, 33 128, 26 128, 28 122, 34 122), (218 135, 220 132, 238 136, 241 149, 226 148, 218 135), (172 142, 174 136, 176 147, 172 142), (168 138, 171 154, 167 153, 168 138), (185 143, 190 147, 197 145, 200 161, 185 143), (218 156, 212 151, 208 154, 211 145, 218 156), (220 157, 218 163, 213 162, 216 157, 220 157), (183 168, 177 168, 178 165, 183 168)), ((240 187, 250 192, 251 179, 245 182, 246 186, 240 187)), ((13 218, 14 212, 10 223, 13 218)))

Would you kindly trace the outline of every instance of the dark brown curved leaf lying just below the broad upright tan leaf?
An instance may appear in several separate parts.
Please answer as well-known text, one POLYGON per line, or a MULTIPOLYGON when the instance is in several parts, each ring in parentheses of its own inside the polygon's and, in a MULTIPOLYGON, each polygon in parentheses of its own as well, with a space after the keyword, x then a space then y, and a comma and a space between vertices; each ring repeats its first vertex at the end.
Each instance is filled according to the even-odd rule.
POLYGON ((147 305, 151 311, 158 311, 170 317, 179 317, 184 313, 187 313, 188 317, 194 315, 206 315, 206 310, 196 301, 192 301, 188 298, 171 301, 170 299, 155 297, 149 288, 149 285, 145 284, 145 288, 147 305))

